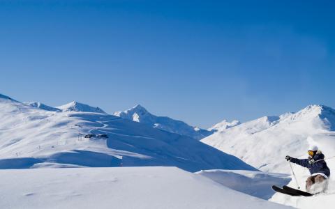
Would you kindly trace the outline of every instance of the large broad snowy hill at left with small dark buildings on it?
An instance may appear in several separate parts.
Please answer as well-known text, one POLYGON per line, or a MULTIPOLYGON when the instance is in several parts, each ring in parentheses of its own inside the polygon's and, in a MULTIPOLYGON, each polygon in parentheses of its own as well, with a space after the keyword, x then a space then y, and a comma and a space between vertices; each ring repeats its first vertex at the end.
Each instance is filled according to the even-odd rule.
POLYGON ((237 157, 190 137, 117 116, 77 110, 45 111, 1 95, 0 168, 173 166, 187 171, 255 170, 237 157))

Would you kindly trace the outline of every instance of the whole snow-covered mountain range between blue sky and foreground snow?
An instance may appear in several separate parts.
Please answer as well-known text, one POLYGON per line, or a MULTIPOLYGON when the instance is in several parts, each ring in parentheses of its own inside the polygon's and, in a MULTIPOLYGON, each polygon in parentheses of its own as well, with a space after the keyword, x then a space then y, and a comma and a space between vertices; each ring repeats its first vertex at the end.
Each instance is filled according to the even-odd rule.
MULTIPOLYGON (((326 157, 335 153, 335 111, 325 105, 309 105, 297 113, 264 116, 245 123, 222 121, 203 130, 183 121, 155 116, 141 105, 108 115, 99 107, 80 102, 50 107, 40 102, 24 104, 6 95, 0 95, 0 100, 0 157, 30 157, 26 160, 38 162, 38 166, 94 166, 87 164, 90 160, 69 162, 64 159, 71 157, 63 157, 75 155, 82 159, 104 156, 114 166, 122 162, 126 166, 173 165, 188 170, 233 168, 227 165, 234 164, 234 157, 228 164, 219 160, 229 153, 262 171, 288 173, 285 155, 306 157, 311 144, 318 145, 326 157), (86 139, 85 134, 107 134, 110 138, 86 139), (117 150, 123 150, 123 154, 117 154, 117 150)), ((329 161, 335 170, 335 162, 329 161)), ((105 160, 100 162, 107 166, 105 160)), ((236 162, 237 167, 248 167, 236 162)))

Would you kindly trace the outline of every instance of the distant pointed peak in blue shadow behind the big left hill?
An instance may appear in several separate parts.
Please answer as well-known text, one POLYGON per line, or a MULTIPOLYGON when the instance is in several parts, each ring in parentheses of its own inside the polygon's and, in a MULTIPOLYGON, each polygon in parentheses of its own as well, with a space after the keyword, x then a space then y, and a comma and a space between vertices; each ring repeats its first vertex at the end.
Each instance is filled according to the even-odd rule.
POLYGON ((200 129, 199 127, 193 127, 184 123, 183 121, 177 121, 172 118, 155 116, 147 109, 137 104, 135 107, 128 109, 126 111, 114 112, 114 116, 119 116, 121 118, 126 118, 131 121, 136 121, 139 123, 144 123, 150 125, 151 127, 156 127, 167 132, 172 132, 175 134, 185 135, 194 139, 202 139, 209 136, 213 132, 208 130, 200 129))

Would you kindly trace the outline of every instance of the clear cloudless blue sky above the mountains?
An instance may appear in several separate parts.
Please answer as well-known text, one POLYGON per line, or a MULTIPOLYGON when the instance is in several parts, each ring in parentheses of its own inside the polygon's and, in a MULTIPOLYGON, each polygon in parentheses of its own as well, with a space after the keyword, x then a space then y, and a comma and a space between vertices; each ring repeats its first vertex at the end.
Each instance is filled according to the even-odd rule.
POLYGON ((209 127, 335 107, 334 1, 0 1, 0 93, 209 127))

